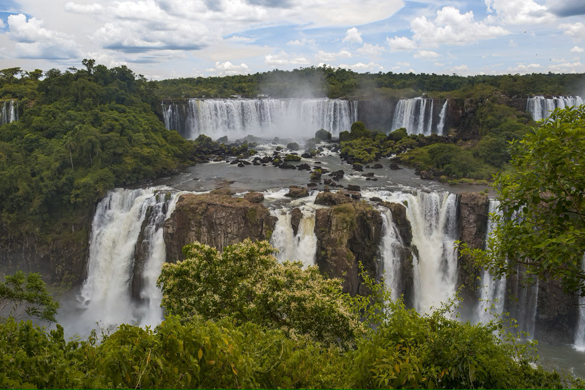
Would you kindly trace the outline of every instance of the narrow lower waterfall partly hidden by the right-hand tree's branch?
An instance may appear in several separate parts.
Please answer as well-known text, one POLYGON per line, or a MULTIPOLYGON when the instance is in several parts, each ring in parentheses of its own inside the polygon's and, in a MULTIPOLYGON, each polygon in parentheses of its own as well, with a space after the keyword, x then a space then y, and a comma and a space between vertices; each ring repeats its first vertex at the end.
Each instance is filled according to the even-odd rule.
MULTIPOLYGON (((491 218, 491 215, 503 215, 499 209, 500 201, 495 199, 490 200, 490 218, 487 222, 486 229, 486 246, 487 240, 491 236, 491 233, 495 229, 495 223, 491 218)), ((506 279, 495 279, 487 270, 483 270, 481 274, 481 285, 479 304, 477 305, 477 319, 479 322, 487 323, 494 319, 492 313, 490 313, 491 304, 494 305, 494 312, 500 315, 504 311, 504 299, 506 292, 506 279)))

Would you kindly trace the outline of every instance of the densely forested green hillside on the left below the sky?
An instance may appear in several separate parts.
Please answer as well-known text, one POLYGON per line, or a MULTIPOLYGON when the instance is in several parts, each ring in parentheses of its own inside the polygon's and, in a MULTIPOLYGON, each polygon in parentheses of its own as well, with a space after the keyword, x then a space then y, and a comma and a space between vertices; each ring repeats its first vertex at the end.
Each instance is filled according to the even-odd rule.
POLYGON ((21 78, 18 68, 1 71, 0 99, 18 99, 21 111, 17 122, 0 127, 3 236, 70 232, 115 186, 172 172, 212 151, 246 149, 205 136, 183 139, 153 112, 160 106, 156 84, 125 66, 84 65, 21 78))

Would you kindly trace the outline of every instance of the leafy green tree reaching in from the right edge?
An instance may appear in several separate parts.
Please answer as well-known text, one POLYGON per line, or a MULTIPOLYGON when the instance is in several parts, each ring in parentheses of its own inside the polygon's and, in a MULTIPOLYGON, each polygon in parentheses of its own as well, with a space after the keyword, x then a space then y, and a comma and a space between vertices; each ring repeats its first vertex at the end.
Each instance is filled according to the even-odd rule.
POLYGON ((511 141, 513 171, 498 173, 501 216, 490 250, 465 250, 492 275, 524 271, 585 296, 585 106, 556 109, 511 141))

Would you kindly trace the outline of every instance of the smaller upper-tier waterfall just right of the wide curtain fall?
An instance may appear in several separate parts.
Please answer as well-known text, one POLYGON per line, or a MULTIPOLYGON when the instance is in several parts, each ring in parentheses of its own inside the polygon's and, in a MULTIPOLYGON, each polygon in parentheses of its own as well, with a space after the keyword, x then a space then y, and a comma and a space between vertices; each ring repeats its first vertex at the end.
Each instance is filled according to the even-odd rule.
POLYGON ((405 127, 408 134, 429 136, 431 133, 437 133, 442 135, 445 131, 448 102, 443 103, 441 113, 439 113, 439 120, 437 121, 433 115, 434 101, 435 99, 428 98, 401 99, 398 101, 394 110, 392 130, 405 127))

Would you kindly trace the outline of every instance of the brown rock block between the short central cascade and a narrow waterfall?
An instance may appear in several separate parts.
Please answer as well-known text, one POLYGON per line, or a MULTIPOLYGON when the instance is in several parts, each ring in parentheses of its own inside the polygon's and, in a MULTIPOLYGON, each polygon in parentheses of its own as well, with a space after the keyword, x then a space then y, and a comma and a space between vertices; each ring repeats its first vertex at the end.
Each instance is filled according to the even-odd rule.
POLYGON ((343 292, 369 293, 359 277, 358 264, 361 261, 371 277, 379 274, 377 253, 382 224, 380 212, 367 202, 349 201, 316 210, 317 265, 323 274, 342 279, 343 292))

